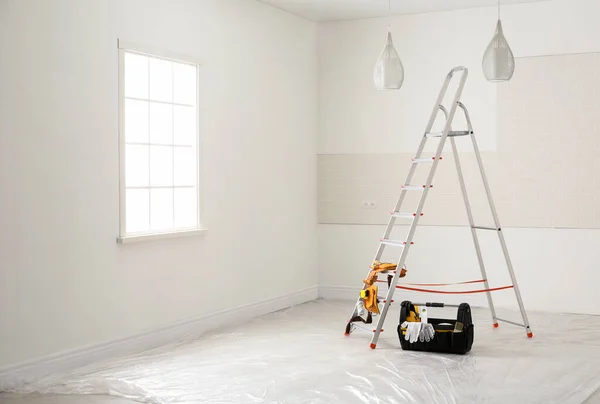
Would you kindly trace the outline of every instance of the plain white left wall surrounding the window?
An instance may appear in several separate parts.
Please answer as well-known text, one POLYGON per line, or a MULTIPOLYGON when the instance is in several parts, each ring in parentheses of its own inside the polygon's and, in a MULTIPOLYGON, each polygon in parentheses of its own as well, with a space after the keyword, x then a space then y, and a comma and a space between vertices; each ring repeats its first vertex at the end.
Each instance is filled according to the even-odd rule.
POLYGON ((0 368, 316 285, 316 57, 254 1, 1 0, 0 368), (116 243, 117 38, 204 64, 203 237, 116 243))

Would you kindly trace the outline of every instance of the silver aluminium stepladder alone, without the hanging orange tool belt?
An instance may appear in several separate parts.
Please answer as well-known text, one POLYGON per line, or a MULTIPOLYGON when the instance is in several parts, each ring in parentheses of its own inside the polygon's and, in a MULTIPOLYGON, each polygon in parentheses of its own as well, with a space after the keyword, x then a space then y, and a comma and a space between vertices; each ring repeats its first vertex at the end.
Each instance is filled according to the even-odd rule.
MULTIPOLYGON (((498 214, 496 212, 496 207, 495 207, 494 201, 492 199, 490 186, 488 184, 488 180, 487 180, 487 176, 485 174, 485 170, 483 167, 483 162, 481 159, 479 147, 477 146, 475 134, 473 132, 473 127, 471 125, 471 119, 469 116, 469 112, 467 111, 467 108, 465 107, 465 105, 462 102, 460 102, 460 97, 462 95, 462 91, 463 91, 465 83, 467 81, 468 74, 469 74, 469 72, 466 67, 456 67, 456 68, 452 69, 450 71, 450 73, 448 73, 448 75, 446 76, 446 80, 444 81, 442 89, 440 90, 440 93, 438 95, 436 103, 433 107, 433 111, 431 112, 431 117, 429 118, 429 122, 425 129, 425 133, 423 134, 423 138, 421 140, 419 148, 417 149, 416 156, 412 161, 412 165, 411 165, 410 171, 407 175, 406 181, 404 182, 404 185, 401 187, 402 189, 400 192, 400 197, 398 198, 398 201, 396 203, 394 210, 391 212, 390 219, 389 219, 386 231, 383 235, 383 238, 379 242, 379 247, 377 248, 377 253, 375 254, 374 261, 375 260, 379 261, 381 259, 386 246, 402 248, 402 253, 400 255, 400 258, 398 259, 397 270, 392 272, 393 279, 391 280, 391 283, 389 285, 388 292, 387 292, 385 298, 383 299, 382 303, 381 302, 379 303, 379 304, 383 304, 383 308, 381 308, 381 310, 380 310, 381 314, 378 316, 379 318, 377 320, 377 326, 373 330, 373 329, 364 327, 362 325, 359 325, 357 323, 354 323, 354 322, 352 322, 352 320, 350 320, 347 324, 346 333, 345 333, 346 335, 349 335, 351 332, 353 332, 356 329, 362 329, 362 330, 372 333, 373 336, 371 338, 371 344, 370 344, 370 347, 372 349, 375 349, 377 346, 377 341, 379 339, 380 333, 382 332, 382 328, 383 328, 383 324, 385 322, 387 312, 389 310, 390 305, 393 302, 394 291, 396 290, 396 286, 397 286, 398 280, 400 278, 400 272, 401 272, 400 269, 404 267, 406 258, 408 256, 408 252, 410 250, 410 246, 413 244, 413 238, 415 235, 415 231, 417 229, 419 219, 422 216, 423 207, 425 205, 427 195, 433 186, 432 181, 433 181, 438 163, 441 160, 441 155, 442 155, 442 151, 444 150, 446 140, 448 138, 450 138, 450 143, 452 145, 452 152, 454 154, 456 170, 458 173, 458 179, 460 182, 462 196, 463 196, 463 199, 465 202, 467 217, 468 217, 469 225, 470 225, 470 229, 471 229, 471 235, 473 237, 473 243, 475 245, 477 260, 479 263, 479 269, 480 269, 481 275, 482 275, 482 282, 485 285, 484 291, 486 291, 485 293, 487 296, 488 305, 489 305, 489 308, 490 308, 490 311, 492 314, 493 326, 494 326, 494 328, 498 327, 499 321, 508 323, 508 324, 512 324, 512 325, 516 325, 516 326, 520 326, 520 327, 525 328, 527 337, 529 337, 529 338, 533 337, 533 333, 532 333, 531 327, 529 325, 529 319, 527 318, 527 313, 525 312, 525 307, 523 305, 523 300, 521 298, 521 293, 519 291, 519 286, 517 284, 517 279, 516 279, 516 276, 514 273, 513 265, 512 265, 510 256, 508 254, 508 249, 506 246, 506 241, 504 239, 504 234, 502 233, 502 227, 500 225, 500 221, 498 219, 498 214), (450 107, 450 110, 448 111, 442 105, 442 101, 444 100, 444 96, 446 95, 446 91, 448 90, 448 86, 450 85, 452 78, 458 73, 461 74, 460 81, 458 83, 458 87, 457 87, 456 93, 454 95, 452 105, 450 107), (456 110, 458 108, 460 108, 463 111, 466 122, 467 122, 467 130, 465 130, 465 131, 453 131, 452 130, 452 122, 454 120, 454 116, 456 115, 456 110), (432 133, 431 130, 433 129, 433 125, 434 125, 436 118, 438 116, 438 113, 440 111, 444 114, 445 119, 446 119, 444 129, 441 133, 440 132, 432 133), (455 137, 459 137, 459 136, 470 136, 471 141, 473 143, 473 151, 474 151, 476 159, 477 159, 477 164, 479 166, 479 171, 481 173, 481 178, 483 180, 483 185, 484 185, 485 192, 487 195, 488 203, 490 205, 490 210, 492 213, 492 218, 493 218, 495 227, 476 226, 474 223, 473 213, 471 211, 471 205, 469 203, 467 189, 466 189, 464 177, 462 174, 462 168, 461 168, 460 160, 459 160, 459 156, 458 156, 458 149, 456 147, 456 142, 454 139, 455 137), (425 148, 425 144, 427 143, 427 140, 429 138, 433 138, 433 137, 440 138, 435 157, 422 158, 423 150, 425 148), (411 185, 411 180, 415 174, 417 166, 420 164, 424 164, 424 163, 432 164, 431 169, 429 171, 429 175, 427 176, 426 183, 424 185, 411 185), (419 199, 417 209, 414 213, 410 213, 410 212, 407 213, 407 212, 400 211, 400 209, 402 207, 402 203, 404 201, 404 197, 406 196, 406 192, 409 192, 409 191, 422 192, 421 198, 419 199), (397 218, 411 218, 411 220, 412 220, 409 230, 408 230, 408 235, 406 236, 406 239, 402 240, 402 241, 394 241, 389 238, 392 233, 392 230, 394 228, 394 225, 396 224, 397 218), (479 245, 479 238, 477 235, 477 230, 490 230, 490 231, 494 231, 498 234, 498 239, 500 241, 500 246, 502 248, 502 252, 503 252, 504 258, 506 260, 506 266, 508 268, 508 272, 510 275, 512 285, 506 286, 503 288, 490 289, 486 270, 485 270, 485 265, 483 262, 483 256, 482 256, 481 248, 479 245), (519 324, 519 323, 516 323, 513 321, 509 321, 509 320, 504 320, 504 319, 498 318, 496 316, 496 310, 494 308, 494 302, 492 300, 491 291, 507 289, 507 288, 512 288, 515 292, 515 297, 516 297, 517 303, 519 305, 519 309, 521 311, 521 316, 523 318, 523 324, 519 324)), ((385 273, 382 273, 382 274, 385 274, 385 273)), ((363 286, 363 289, 364 289, 364 286, 363 286)), ((361 303, 361 299, 358 298, 358 300, 354 306, 354 311, 352 313, 352 316, 350 317, 351 319, 356 318, 356 316, 359 315, 358 307, 359 307, 360 303, 361 303)), ((451 305, 446 305, 446 306, 450 307, 451 305)), ((369 315, 371 316, 371 314, 369 314, 369 315)))

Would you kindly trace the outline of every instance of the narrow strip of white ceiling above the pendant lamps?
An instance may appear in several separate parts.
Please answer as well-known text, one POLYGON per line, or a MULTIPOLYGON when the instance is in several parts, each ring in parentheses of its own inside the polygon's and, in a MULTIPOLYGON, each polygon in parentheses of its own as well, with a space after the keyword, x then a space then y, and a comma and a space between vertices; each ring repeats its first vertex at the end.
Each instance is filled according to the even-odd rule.
MULTIPOLYGON (((387 0, 259 0, 313 21, 353 20, 384 17, 387 0)), ((500 0, 500 4, 533 3, 543 0, 500 0)), ((497 0, 391 0, 392 14, 415 14, 495 6, 497 0)))

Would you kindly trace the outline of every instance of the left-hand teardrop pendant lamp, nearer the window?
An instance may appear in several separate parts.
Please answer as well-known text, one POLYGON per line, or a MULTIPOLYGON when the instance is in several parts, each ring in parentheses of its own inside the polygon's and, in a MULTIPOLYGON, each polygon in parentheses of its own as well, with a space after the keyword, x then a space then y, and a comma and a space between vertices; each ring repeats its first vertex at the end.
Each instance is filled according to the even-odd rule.
MULTIPOLYGON (((391 0, 388 0, 388 18, 391 20, 391 0)), ((404 82, 404 66, 394 48, 391 32, 391 21, 388 25, 388 33, 385 46, 373 71, 375 87, 379 90, 399 90, 404 82)))

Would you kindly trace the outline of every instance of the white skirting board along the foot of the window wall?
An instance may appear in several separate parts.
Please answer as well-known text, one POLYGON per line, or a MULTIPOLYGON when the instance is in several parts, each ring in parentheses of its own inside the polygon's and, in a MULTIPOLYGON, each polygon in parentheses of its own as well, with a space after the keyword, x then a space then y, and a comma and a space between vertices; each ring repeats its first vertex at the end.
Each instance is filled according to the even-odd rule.
POLYGON ((243 323, 253 317, 283 310, 317 298, 318 287, 312 286, 262 302, 222 310, 104 344, 54 354, 21 365, 0 369, 0 393, 34 382, 47 375, 67 372, 111 357, 131 355, 157 348, 190 336, 199 336, 226 324, 243 323))

